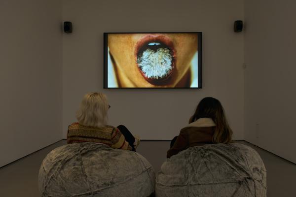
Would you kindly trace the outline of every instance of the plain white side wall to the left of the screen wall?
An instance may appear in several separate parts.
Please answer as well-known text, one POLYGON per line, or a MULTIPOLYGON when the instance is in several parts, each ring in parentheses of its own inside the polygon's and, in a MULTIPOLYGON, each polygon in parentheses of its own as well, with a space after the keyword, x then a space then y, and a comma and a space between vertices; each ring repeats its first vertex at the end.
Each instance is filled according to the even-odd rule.
POLYGON ((62 5, 0 1, 0 166, 62 138, 62 5))

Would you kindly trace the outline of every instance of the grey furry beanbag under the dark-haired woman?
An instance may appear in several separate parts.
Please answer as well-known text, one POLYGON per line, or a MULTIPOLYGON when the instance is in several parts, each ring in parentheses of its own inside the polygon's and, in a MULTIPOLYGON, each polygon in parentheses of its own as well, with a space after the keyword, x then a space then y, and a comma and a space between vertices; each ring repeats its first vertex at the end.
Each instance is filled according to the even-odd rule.
POLYGON ((266 169, 249 146, 209 144, 167 159, 157 173, 156 197, 266 197, 266 169))

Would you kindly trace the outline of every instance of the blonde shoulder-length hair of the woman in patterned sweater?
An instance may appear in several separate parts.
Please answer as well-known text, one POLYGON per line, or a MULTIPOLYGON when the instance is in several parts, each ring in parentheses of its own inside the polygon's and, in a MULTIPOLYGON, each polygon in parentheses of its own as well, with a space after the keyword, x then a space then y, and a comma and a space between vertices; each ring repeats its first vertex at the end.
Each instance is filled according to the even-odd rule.
POLYGON ((80 125, 87 127, 104 127, 107 125, 109 109, 106 95, 92 92, 84 95, 76 119, 80 125))

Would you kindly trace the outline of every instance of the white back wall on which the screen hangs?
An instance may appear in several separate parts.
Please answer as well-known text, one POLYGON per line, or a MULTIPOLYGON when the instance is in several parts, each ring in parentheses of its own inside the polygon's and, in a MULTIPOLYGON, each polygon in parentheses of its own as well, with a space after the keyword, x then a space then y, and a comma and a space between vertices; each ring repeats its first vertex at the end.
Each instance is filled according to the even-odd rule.
POLYGON ((82 96, 107 94, 110 125, 126 125, 142 139, 171 139, 200 99, 221 100, 235 139, 243 139, 243 0, 63 0, 63 132, 82 96), (104 32, 203 32, 203 89, 104 90, 104 32))

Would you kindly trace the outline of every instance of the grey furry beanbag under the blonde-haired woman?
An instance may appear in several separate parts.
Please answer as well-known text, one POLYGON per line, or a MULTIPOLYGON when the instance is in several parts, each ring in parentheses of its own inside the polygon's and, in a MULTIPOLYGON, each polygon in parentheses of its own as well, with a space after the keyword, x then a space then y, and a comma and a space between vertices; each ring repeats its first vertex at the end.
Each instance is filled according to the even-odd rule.
POLYGON ((94 142, 54 149, 39 170, 42 197, 148 197, 154 185, 143 156, 94 142))

